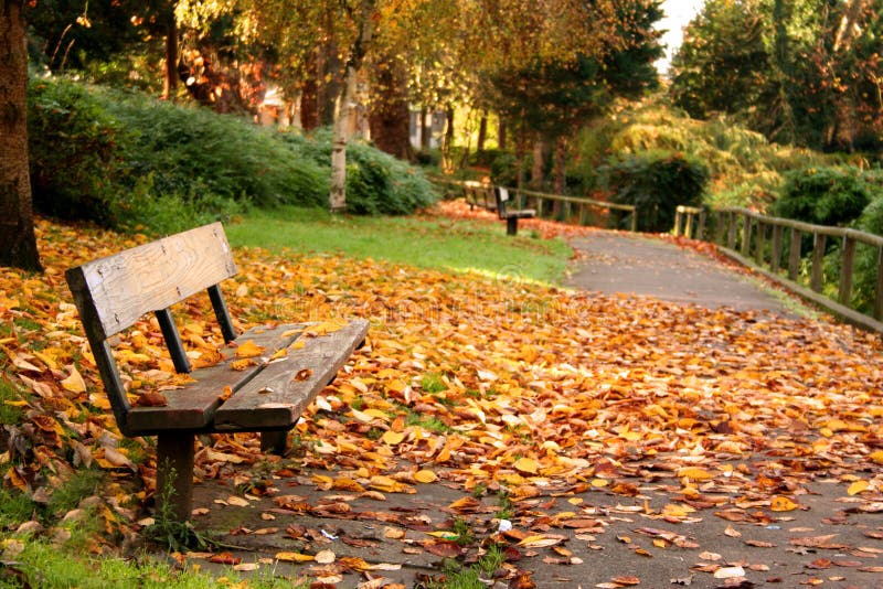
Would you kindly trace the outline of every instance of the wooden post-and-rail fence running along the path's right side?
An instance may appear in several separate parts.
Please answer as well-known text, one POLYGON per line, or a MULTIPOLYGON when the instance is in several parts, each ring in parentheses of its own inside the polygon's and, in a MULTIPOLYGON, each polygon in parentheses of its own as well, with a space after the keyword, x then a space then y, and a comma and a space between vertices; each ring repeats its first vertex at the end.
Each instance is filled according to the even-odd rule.
POLYGON ((770 217, 747 208, 706 211, 693 206, 678 207, 674 234, 713 242, 728 256, 755 267, 805 299, 853 324, 883 333, 883 237, 879 235, 770 217), (841 240, 840 276, 834 298, 823 294, 825 259, 830 239, 841 240), (876 279, 870 315, 855 310, 852 301, 859 244, 876 249, 876 279), (809 276, 808 288, 800 283, 804 274, 809 276))

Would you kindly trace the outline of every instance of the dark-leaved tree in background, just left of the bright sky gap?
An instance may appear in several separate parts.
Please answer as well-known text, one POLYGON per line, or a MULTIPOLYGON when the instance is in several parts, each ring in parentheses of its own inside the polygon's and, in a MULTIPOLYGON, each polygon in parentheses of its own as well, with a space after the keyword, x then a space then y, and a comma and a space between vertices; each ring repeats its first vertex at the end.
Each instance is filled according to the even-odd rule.
MULTIPOLYGON (((519 156, 525 154, 530 141, 556 146, 557 190, 563 190, 565 138, 615 96, 636 97, 658 84, 652 63, 662 54, 661 33, 653 30, 662 17, 659 4, 658 0, 598 2, 583 19, 604 23, 603 30, 574 29, 570 21, 534 15, 534 25, 547 31, 550 40, 536 39, 521 47, 532 53, 510 60, 506 67, 488 68, 483 95, 518 129, 519 156), (581 34, 581 42, 565 43, 562 36, 568 32, 581 34), (550 47, 552 39, 564 44, 550 47)), ((543 168, 542 153, 534 150, 534 180, 543 168)))

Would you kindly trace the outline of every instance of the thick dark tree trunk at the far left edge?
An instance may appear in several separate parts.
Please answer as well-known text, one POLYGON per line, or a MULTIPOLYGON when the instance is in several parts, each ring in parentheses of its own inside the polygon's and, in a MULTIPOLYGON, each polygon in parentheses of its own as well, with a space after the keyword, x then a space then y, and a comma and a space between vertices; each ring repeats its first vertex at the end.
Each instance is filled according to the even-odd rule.
POLYGON ((40 271, 28 175, 24 0, 0 4, 0 266, 40 271))

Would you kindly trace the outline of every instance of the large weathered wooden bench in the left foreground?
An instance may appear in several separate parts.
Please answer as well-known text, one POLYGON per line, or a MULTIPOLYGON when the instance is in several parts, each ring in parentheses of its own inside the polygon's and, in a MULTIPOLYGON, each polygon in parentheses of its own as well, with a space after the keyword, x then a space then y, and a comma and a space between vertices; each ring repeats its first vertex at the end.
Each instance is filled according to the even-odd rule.
POLYGON ((368 321, 352 320, 264 325, 237 336, 219 286, 235 274, 220 223, 66 272, 117 426, 125 436, 158 437, 157 501, 171 490, 172 514, 181 521, 191 515, 195 436, 259 431, 262 450, 283 453, 304 408, 333 381, 368 333, 368 321), (191 371, 170 308, 203 290, 225 345, 220 362, 191 371), (174 370, 190 378, 180 387, 130 400, 111 345, 148 313, 156 314, 174 370), (257 356, 249 360, 252 354, 257 356))

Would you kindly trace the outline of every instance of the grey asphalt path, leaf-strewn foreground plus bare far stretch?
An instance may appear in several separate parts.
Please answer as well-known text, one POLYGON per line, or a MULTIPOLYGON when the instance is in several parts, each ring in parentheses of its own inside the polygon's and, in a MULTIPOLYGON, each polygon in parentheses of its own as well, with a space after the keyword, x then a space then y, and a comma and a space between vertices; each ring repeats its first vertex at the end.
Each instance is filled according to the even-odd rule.
MULTIPOLYGON (((570 279, 573 288, 790 314, 757 282, 664 240, 598 232, 574 238, 573 245, 581 253, 570 279)), ((631 463, 635 475, 626 482, 634 489, 627 495, 604 485, 579 485, 542 490, 514 502, 513 529, 503 536, 494 535, 501 528, 500 499, 493 490, 478 496, 465 515, 451 506, 476 497, 444 479, 417 485, 415 494, 387 493, 380 501, 322 491, 316 472, 297 468, 290 476, 270 476, 277 497, 295 497, 288 503, 248 495, 245 501, 226 501, 241 495, 228 482, 198 484, 195 500, 202 510, 195 524, 227 534, 224 540, 240 547, 231 553, 240 566, 256 569, 244 575, 307 579, 320 583, 317 587, 427 587, 426 579, 438 578, 444 561, 430 549, 437 537, 429 533, 450 529, 454 520, 465 517, 477 537, 497 538, 511 548, 510 567, 530 571, 530 581, 523 585, 487 579, 494 589, 883 588, 883 502, 869 504, 849 496, 838 473, 801 483, 799 508, 788 511, 758 502, 764 493, 743 496, 738 485, 728 490, 709 484, 702 501, 695 502, 696 512, 684 516, 670 511, 680 484, 674 473, 659 470, 661 460, 631 463), (741 507, 732 508, 734 504, 741 507), (556 516, 574 511, 584 515, 578 526, 556 523, 567 518, 556 516), (276 558, 323 550, 326 558, 333 554, 338 563, 352 557, 377 568, 329 572, 323 578, 322 566, 315 561, 276 558), (373 585, 362 585, 372 578, 373 585)), ((743 469, 769 476, 778 476, 779 468, 776 459, 763 454, 744 456, 732 467, 734 473, 743 469)), ((461 558, 476 559, 479 553, 476 545, 465 547, 461 558)), ((199 555, 191 561, 204 569, 219 566, 199 555)))

